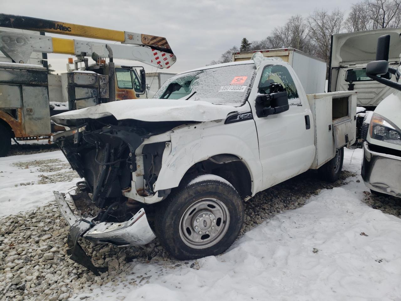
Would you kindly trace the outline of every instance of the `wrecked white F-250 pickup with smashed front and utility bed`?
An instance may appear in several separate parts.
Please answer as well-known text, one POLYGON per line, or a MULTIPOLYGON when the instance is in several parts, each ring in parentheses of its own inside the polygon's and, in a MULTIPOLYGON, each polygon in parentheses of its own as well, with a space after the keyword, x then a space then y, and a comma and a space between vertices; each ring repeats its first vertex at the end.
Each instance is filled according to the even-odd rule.
POLYGON ((154 98, 52 117, 71 128, 53 140, 85 179, 73 209, 55 192, 69 254, 94 273, 79 237, 121 247, 156 235, 178 259, 224 252, 243 201, 308 169, 336 181, 355 140, 355 92, 306 95, 288 63, 261 55, 175 75, 154 98))

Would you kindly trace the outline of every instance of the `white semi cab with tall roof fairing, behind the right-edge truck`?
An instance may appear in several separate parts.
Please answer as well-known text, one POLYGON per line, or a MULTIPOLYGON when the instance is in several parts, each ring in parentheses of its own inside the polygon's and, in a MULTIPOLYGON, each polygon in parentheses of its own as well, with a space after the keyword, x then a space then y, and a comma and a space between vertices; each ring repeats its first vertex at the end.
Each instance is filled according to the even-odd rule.
MULTIPOLYGON (((375 110, 393 91, 391 87, 369 77, 366 67, 375 59, 377 39, 382 35, 390 35, 388 62, 390 67, 397 68, 401 53, 400 34, 401 28, 380 28, 332 35, 327 91, 358 91, 357 105, 375 110)), ((383 76, 397 81, 391 73, 383 76)))

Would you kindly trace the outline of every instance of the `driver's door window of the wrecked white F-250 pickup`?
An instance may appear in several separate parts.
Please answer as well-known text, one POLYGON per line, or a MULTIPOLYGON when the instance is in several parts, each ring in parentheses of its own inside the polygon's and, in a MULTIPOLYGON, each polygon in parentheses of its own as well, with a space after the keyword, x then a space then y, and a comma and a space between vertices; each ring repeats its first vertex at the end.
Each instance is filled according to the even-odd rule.
MULTIPOLYGON (((268 86, 265 84, 265 81, 269 83, 279 83, 282 85, 288 95, 288 104, 290 106, 300 105, 301 100, 298 97, 298 92, 296 89, 296 85, 294 83, 294 79, 290 75, 290 71, 285 66, 282 65, 269 65, 263 69, 263 73, 259 82, 259 87, 261 85, 268 86)), ((267 94, 269 91, 265 91, 267 94)))

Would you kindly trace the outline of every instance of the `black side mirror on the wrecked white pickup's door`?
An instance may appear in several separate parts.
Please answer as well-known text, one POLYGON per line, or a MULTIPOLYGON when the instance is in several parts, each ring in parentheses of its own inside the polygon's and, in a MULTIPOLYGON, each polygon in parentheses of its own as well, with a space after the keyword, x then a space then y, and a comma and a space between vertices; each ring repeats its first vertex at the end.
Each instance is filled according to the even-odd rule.
POLYGON ((256 97, 256 115, 258 117, 279 114, 289 108, 287 91, 263 94, 256 97))

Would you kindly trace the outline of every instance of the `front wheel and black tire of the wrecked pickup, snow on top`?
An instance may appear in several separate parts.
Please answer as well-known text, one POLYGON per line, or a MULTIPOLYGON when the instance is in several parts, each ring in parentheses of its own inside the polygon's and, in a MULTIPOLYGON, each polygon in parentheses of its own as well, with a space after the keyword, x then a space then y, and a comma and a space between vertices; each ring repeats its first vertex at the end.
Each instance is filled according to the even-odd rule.
POLYGON ((235 188, 221 177, 215 175, 202 177, 200 181, 186 181, 180 185, 160 204, 156 213, 156 235, 164 248, 179 260, 223 253, 233 244, 242 227, 243 203, 235 188), (204 207, 206 203, 208 205, 204 207), (216 205, 215 208, 213 204, 216 205), (221 208, 224 206, 225 209, 219 206, 221 208), (204 208, 201 209, 202 207, 204 208), (210 215, 207 213, 208 210, 210 215), (226 218, 220 218, 219 222, 217 217, 220 211, 228 214, 225 215, 226 218), (202 215, 204 212, 206 217, 202 215), (190 226, 186 226, 186 223, 190 226), (203 235, 195 230, 196 227, 202 230, 199 232, 203 235), (219 234, 216 234, 217 232, 219 234), (195 239, 200 242, 194 242, 195 239), (198 243, 199 245, 194 245, 198 243))

